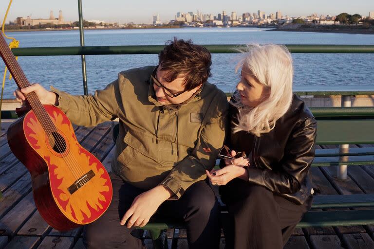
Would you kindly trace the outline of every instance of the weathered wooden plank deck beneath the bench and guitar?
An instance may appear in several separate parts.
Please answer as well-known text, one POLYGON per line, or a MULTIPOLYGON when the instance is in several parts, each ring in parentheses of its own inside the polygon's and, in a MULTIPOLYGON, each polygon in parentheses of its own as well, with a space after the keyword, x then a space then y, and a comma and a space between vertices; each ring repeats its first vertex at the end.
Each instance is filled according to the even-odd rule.
MULTIPOLYGON (((6 129, 11 122, 2 123, 0 134, 0 249, 84 249, 82 228, 66 233, 52 229, 40 217, 32 195, 30 174, 10 151, 6 129)), ((110 168, 114 143, 113 123, 96 127, 75 127, 76 137, 82 146, 110 168)), ((355 145, 358 147, 373 145, 355 145)), ((332 148, 336 146, 322 146, 332 148)), ((320 147, 319 147, 320 148, 320 147)), ((334 178, 336 167, 313 167, 312 178, 318 195, 374 194, 374 166, 351 166, 348 181, 334 178)), ((169 248, 187 248, 186 231, 167 231, 169 248)), ((148 232, 144 241, 152 248, 148 232)), ((296 229, 286 249, 374 249, 374 226, 313 227, 296 229)), ((221 240, 224 248, 224 238, 221 240)))

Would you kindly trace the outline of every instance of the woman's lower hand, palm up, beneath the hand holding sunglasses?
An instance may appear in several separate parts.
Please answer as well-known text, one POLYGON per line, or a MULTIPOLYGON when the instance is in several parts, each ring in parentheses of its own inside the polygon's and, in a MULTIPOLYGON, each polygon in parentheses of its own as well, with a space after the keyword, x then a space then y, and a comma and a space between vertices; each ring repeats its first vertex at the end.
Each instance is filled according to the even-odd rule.
POLYGON ((226 185, 234 178, 248 179, 247 170, 243 166, 228 165, 220 170, 206 170, 206 175, 212 185, 226 185))

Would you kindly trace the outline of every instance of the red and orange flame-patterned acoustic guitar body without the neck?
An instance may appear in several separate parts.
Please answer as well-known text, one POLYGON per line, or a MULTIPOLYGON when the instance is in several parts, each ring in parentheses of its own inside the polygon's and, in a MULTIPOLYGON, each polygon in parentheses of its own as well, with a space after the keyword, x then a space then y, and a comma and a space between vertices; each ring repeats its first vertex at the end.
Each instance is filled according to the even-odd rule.
POLYGON ((30 110, 8 128, 8 143, 31 174, 40 215, 56 230, 67 231, 107 210, 112 183, 102 163, 78 143, 66 115, 54 106, 43 107, 57 132, 48 136, 30 110))

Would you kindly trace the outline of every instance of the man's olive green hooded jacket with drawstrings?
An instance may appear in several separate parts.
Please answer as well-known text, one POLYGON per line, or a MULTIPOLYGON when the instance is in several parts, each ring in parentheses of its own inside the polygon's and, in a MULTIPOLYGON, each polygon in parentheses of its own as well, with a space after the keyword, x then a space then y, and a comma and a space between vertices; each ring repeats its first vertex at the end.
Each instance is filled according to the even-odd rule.
POLYGON ((76 125, 94 126, 119 118, 112 170, 132 185, 149 190, 164 185, 178 199, 206 178, 224 142, 228 102, 208 82, 182 104, 162 106, 150 74, 155 67, 122 71, 94 95, 73 96, 51 87, 58 106, 76 125))

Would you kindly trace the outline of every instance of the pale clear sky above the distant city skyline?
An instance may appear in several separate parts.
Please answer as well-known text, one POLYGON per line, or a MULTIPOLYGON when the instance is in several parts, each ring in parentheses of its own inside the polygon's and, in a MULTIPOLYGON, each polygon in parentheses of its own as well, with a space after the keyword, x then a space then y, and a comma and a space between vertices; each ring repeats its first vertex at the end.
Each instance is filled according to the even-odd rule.
MULTIPOLYGON (((4 18, 9 0, 0 0, 0 18, 4 18)), ((313 13, 318 15, 335 16, 342 12, 348 14, 360 14, 368 16, 369 11, 374 11, 374 0, 82 0, 83 18, 85 20, 103 20, 119 23, 150 23, 153 14, 159 14, 161 21, 175 18, 177 12, 197 10, 203 14, 212 14, 226 11, 231 15, 236 11, 237 15, 258 10, 267 15, 281 11, 282 15, 290 17, 308 16, 313 13), (131 2, 131 3, 129 3, 131 2)), ((13 0, 7 23, 17 17, 49 18, 50 11, 55 18, 58 11, 62 10, 65 21, 78 20, 77 0, 13 0)))

